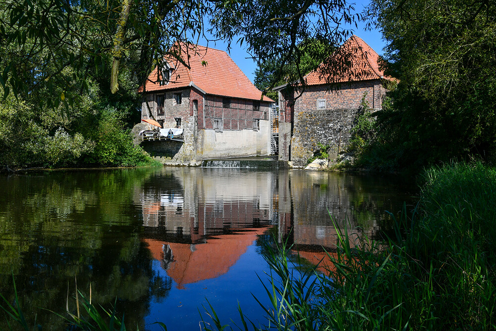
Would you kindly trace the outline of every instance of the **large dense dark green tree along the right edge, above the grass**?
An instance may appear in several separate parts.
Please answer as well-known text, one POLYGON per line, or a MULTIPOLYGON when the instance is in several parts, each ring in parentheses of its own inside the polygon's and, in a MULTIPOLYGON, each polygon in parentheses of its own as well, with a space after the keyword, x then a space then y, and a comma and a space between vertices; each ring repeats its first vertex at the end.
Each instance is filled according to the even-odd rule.
POLYGON ((373 0, 400 80, 380 136, 400 166, 496 151, 496 5, 491 1, 373 0))

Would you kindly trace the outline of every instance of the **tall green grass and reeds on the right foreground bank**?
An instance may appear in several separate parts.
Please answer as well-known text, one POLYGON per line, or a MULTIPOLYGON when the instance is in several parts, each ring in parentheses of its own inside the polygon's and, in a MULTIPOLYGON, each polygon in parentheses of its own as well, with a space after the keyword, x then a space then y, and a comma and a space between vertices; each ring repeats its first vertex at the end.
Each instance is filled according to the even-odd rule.
MULTIPOLYGON (((290 247, 267 250, 268 323, 241 329, 494 330, 496 169, 460 163, 424 176, 419 206, 404 209, 394 238, 353 248, 341 229, 330 276, 297 272, 290 247)), ((206 330, 226 327, 210 315, 206 330)))

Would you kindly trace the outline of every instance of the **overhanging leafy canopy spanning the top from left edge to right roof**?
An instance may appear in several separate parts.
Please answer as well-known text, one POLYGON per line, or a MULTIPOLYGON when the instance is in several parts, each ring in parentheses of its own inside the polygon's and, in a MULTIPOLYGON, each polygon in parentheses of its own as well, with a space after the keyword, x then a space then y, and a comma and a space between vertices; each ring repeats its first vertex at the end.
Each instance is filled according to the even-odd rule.
MULTIPOLYGON (((51 87, 67 67, 83 88, 90 68, 111 78, 113 93, 119 68, 129 67, 143 83, 165 55, 180 54, 171 45, 203 35, 206 18, 217 37, 230 42, 241 36, 238 41, 248 43, 256 60, 299 68, 306 40, 341 44, 350 34, 341 25, 355 18, 353 6, 342 0, 10 0, 1 7, 2 44, 23 48, 23 61, 6 63, 0 75, 7 94, 36 84, 51 87)), ((187 65, 187 59, 181 60, 187 65)), ((305 74, 297 71, 299 78, 305 74)), ((73 97, 65 93, 60 99, 73 97)), ((50 100, 58 104, 58 99, 50 100)))

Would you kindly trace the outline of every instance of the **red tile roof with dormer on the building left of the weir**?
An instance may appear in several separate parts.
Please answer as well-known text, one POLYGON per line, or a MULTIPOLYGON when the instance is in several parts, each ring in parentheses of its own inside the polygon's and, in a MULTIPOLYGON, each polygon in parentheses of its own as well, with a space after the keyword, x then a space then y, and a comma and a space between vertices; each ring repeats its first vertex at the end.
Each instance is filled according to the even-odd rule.
MULTIPOLYGON (((253 85, 226 52, 205 46, 181 44, 178 49, 184 64, 170 56, 167 63, 174 69, 169 83, 160 85, 157 68, 153 69, 146 81, 146 91, 169 90, 186 86, 196 86, 206 94, 234 98, 260 100, 262 92, 253 85)), ((142 86, 139 91, 142 91, 142 86)), ((264 101, 273 101, 264 95, 264 101)))

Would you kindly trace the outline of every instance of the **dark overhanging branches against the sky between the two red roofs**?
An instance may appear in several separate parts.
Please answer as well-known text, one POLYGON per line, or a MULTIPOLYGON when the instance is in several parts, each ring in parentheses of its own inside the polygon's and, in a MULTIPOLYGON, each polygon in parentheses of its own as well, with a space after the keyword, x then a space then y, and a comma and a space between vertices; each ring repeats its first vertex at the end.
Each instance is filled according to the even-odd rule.
MULTIPOLYGON (((344 0, 227 1, 216 6, 211 19, 219 38, 246 42, 259 68, 271 79, 269 91, 278 83, 304 84, 308 60, 315 63, 336 62, 329 57, 332 49, 351 36, 344 24, 360 19, 354 6, 344 0), (322 52, 322 47, 327 52, 322 52)), ((346 66, 343 61, 336 68, 346 66)))

